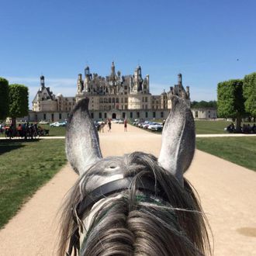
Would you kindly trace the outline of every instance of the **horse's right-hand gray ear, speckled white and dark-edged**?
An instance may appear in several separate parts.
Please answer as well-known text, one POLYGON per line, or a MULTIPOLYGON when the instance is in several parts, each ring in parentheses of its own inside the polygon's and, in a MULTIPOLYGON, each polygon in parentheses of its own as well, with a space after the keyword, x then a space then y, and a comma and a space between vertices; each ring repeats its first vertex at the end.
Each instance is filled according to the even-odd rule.
POLYGON ((183 174, 195 152, 195 123, 183 99, 172 96, 171 103, 171 112, 164 123, 158 162, 183 186, 183 174))

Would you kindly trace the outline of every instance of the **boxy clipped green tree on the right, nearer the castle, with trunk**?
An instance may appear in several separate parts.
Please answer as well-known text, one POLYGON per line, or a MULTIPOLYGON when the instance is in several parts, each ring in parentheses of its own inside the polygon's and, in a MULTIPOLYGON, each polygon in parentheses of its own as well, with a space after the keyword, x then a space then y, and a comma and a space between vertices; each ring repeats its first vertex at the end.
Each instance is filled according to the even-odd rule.
POLYGON ((229 80, 218 84, 218 116, 236 119, 236 130, 240 132, 244 110, 243 81, 229 80))

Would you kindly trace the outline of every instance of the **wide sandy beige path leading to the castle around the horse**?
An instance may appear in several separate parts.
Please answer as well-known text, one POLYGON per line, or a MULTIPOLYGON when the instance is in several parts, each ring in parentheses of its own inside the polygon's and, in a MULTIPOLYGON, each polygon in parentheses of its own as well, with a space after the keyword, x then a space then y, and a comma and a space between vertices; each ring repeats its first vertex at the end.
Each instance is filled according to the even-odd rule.
MULTIPOLYGON (((134 150, 158 156, 161 136, 113 124, 99 133, 102 154, 134 150)), ((199 192, 214 236, 214 255, 256 255, 256 173, 196 150, 186 175, 199 192)), ((57 210, 77 175, 65 166, 0 231, 0 255, 56 255, 57 210)))

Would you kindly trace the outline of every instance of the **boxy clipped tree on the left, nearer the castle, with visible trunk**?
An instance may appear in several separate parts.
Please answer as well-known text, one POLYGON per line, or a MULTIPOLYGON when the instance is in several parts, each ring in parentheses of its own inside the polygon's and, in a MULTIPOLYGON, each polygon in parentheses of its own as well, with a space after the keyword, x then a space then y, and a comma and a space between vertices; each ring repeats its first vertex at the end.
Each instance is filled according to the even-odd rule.
POLYGON ((29 113, 29 90, 25 85, 9 85, 9 116, 16 124, 16 117, 29 113))

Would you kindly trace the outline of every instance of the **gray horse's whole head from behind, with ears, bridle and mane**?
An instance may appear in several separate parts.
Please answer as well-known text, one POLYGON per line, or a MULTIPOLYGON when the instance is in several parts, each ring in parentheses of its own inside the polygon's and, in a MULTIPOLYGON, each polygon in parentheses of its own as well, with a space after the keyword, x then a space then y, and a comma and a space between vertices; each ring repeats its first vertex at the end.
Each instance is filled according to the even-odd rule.
POLYGON ((88 99, 67 123, 66 153, 78 182, 64 206, 61 254, 202 255, 208 241, 199 202, 183 177, 195 151, 192 112, 174 96, 158 157, 102 157, 88 99), (105 252, 104 252, 105 251, 105 252))

